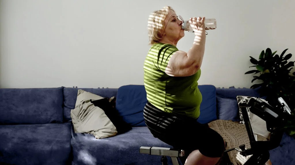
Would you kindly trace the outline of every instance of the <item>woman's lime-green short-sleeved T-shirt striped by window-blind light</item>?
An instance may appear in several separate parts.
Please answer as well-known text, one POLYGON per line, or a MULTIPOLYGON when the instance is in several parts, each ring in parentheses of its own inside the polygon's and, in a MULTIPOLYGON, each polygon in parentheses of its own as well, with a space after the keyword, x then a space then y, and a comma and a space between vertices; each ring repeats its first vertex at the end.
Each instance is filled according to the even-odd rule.
POLYGON ((178 49, 171 44, 156 43, 151 46, 144 62, 144 85, 148 101, 164 112, 198 118, 201 92, 197 73, 187 77, 173 77, 165 73, 168 61, 178 49))

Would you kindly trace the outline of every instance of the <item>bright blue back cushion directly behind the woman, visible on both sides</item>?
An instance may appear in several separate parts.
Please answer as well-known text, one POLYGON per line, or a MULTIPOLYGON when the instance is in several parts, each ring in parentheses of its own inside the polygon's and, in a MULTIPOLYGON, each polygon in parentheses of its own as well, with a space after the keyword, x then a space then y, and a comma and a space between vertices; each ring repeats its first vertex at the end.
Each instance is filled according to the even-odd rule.
MULTIPOLYGON (((203 97, 198 122, 209 123, 217 119, 215 87, 213 85, 199 85, 198 87, 203 97)), ((127 123, 133 127, 142 127, 146 126, 143 109, 147 101, 144 85, 124 85, 118 89, 116 108, 127 123)))

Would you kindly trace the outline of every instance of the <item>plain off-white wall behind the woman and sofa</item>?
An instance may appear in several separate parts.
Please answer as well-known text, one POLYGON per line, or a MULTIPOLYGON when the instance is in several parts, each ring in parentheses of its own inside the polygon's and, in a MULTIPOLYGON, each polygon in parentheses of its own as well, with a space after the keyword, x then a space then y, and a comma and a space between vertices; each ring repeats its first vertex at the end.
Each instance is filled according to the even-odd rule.
MULTIPOLYGON (((148 16, 166 5, 184 19, 217 20, 200 85, 250 87, 249 56, 266 48, 289 48, 295 60, 293 0, 0 0, 0 87, 143 85, 148 16)), ((193 38, 186 32, 178 49, 193 38)))

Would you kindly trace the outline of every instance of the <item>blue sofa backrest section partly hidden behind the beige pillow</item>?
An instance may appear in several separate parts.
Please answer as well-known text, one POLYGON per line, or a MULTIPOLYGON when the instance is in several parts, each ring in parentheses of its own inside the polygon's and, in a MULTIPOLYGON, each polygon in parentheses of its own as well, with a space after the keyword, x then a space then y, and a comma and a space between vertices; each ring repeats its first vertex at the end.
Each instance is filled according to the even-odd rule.
POLYGON ((64 107, 63 107, 63 116, 64 122, 71 121, 71 110, 75 108, 77 93, 78 90, 82 89, 87 92, 91 92, 93 94, 99 95, 101 97, 113 97, 117 95, 117 88, 72 88, 72 87, 64 87, 63 95, 64 95, 64 107))

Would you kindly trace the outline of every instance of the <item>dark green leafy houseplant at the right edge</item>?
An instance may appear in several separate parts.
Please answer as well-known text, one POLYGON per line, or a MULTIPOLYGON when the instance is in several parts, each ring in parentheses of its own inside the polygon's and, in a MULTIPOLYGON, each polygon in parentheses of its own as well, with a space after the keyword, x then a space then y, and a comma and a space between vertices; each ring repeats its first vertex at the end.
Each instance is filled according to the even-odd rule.
POLYGON ((288 49, 285 49, 281 55, 276 54, 270 48, 262 51, 259 59, 250 56, 250 62, 254 64, 255 70, 250 70, 245 74, 254 73, 252 83, 255 80, 260 81, 250 88, 261 87, 261 93, 267 96, 270 101, 282 97, 292 110, 291 119, 284 123, 285 131, 295 137, 295 72, 291 73, 295 61, 288 60, 292 57, 289 53, 284 56, 288 49), (259 74, 258 74, 259 73, 259 74))

